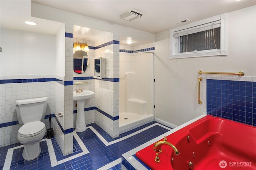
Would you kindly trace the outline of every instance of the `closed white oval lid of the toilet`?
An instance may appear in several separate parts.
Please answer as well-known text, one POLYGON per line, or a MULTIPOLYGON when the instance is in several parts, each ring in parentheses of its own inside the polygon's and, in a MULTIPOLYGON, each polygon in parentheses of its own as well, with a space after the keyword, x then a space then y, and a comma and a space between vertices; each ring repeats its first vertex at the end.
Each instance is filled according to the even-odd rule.
POLYGON ((22 125, 19 134, 23 137, 30 137, 41 133, 45 129, 45 124, 41 121, 33 121, 22 125))

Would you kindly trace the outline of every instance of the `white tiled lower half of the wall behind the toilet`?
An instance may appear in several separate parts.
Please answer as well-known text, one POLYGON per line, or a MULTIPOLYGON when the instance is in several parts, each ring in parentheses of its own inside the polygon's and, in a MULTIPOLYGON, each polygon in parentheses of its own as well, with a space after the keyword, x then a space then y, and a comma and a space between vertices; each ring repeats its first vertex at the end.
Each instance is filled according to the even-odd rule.
MULTIPOLYGON (((52 78, 54 75, 1 75, 1 80, 52 78)), ((17 121, 16 100, 48 97, 46 115, 54 113, 54 82, 29 82, 0 84, 0 123, 17 121)), ((48 128, 49 121, 43 121, 48 128)), ((17 133, 21 125, 0 128, 0 147, 18 143, 17 133)))

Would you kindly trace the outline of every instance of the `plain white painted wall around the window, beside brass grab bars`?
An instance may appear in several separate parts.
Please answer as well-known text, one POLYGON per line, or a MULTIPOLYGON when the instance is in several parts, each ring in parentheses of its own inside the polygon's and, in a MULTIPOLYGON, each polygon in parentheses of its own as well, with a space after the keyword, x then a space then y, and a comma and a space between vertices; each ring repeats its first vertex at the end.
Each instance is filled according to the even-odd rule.
POLYGON ((169 30, 156 34, 155 117, 178 126, 202 114, 198 70, 256 76, 256 6, 228 13, 228 56, 169 59, 169 30))

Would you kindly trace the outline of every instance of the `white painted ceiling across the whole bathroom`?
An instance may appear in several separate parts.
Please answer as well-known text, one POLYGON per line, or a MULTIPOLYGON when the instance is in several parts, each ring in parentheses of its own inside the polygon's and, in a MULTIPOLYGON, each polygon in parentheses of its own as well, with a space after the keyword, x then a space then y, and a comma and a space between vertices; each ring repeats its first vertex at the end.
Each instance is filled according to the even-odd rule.
MULTIPOLYGON (((256 0, 31 0, 31 2, 150 33, 159 33, 177 27, 174 23, 185 19, 194 22, 256 5, 256 0), (142 12, 144 15, 130 22, 119 18, 120 14, 130 9, 142 12)), ((31 17, 31 2, 0 0, 1 27, 56 35, 62 23, 31 17), (33 20, 40 24, 32 27, 25 25, 22 22, 24 20, 33 20)), ((75 32, 76 30, 80 29, 74 29, 74 35, 79 34, 75 32)), ((95 30, 91 31, 95 33, 95 30)))

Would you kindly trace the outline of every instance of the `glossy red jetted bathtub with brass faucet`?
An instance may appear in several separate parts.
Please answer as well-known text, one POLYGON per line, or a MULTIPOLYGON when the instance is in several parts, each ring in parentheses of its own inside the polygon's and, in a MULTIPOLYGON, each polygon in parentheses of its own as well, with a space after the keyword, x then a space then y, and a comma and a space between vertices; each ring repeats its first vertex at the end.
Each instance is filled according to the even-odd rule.
POLYGON ((153 170, 256 170, 256 127, 207 115, 166 138, 180 154, 162 145, 155 162, 153 143, 136 156, 153 170))

